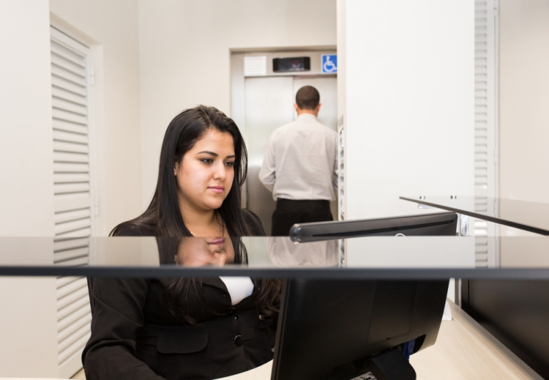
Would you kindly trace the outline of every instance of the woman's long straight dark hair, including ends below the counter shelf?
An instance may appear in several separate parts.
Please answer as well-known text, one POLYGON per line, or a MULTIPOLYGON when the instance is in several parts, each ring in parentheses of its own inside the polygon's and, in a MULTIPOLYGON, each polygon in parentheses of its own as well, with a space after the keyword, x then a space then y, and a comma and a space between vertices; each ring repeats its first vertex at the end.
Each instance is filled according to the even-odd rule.
MULTIPOLYGON (((113 228, 109 236, 116 236, 128 227, 131 230, 146 231, 153 236, 192 236, 179 210, 174 166, 181 163, 185 153, 212 129, 232 135, 235 155, 232 187, 221 207, 216 210, 216 218, 227 228, 229 236, 232 236, 235 262, 247 263, 246 248, 240 241, 240 236, 247 236, 250 231, 242 211, 240 191, 246 179, 248 155, 238 126, 225 113, 214 107, 198 106, 186 109, 170 122, 162 142, 158 181, 153 200, 143 214, 131 221, 120 223, 113 228)), ((260 313, 266 317, 276 317, 280 303, 280 281, 258 279, 254 280, 254 284, 254 292, 257 292, 256 305, 260 313)), ((166 287, 166 296, 173 300, 168 303, 171 305, 168 306, 170 312, 183 317, 188 323, 194 323, 185 307, 186 300, 192 293, 203 297, 201 281, 193 278, 175 278, 166 287)))

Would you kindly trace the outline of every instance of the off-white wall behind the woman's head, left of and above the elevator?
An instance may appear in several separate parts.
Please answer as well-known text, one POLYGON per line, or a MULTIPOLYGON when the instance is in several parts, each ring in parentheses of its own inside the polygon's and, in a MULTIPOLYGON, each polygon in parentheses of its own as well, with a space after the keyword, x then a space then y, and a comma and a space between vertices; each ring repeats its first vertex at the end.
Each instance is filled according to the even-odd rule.
POLYGON ((142 207, 164 132, 197 104, 230 114, 229 49, 335 45, 335 0, 139 1, 142 207))

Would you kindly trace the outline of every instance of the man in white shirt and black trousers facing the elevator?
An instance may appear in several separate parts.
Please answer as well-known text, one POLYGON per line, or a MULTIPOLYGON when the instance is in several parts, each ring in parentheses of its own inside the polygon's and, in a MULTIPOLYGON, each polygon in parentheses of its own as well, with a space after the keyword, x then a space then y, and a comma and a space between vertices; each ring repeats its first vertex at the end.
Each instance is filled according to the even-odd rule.
POLYGON ((317 121, 320 94, 295 94, 298 119, 277 128, 267 144, 259 180, 273 192, 272 236, 288 236, 295 223, 332 221, 337 185, 337 133, 317 121))

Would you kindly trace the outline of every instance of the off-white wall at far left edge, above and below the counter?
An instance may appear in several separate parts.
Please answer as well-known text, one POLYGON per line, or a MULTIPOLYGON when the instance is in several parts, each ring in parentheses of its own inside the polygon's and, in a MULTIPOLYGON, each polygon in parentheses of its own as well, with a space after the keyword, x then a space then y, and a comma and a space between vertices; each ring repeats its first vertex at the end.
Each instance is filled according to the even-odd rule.
MULTIPOLYGON (((0 5, 0 236, 54 234, 48 8, 0 5)), ((52 260, 39 248, 49 255, 29 254, 52 260)), ((0 305, 0 377, 56 377, 55 279, 2 277, 0 305)))

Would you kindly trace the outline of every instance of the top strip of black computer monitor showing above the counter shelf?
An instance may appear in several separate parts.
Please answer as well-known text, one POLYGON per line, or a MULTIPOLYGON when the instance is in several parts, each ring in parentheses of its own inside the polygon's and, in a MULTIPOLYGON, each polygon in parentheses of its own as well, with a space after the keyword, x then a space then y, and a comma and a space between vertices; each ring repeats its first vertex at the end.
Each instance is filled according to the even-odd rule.
POLYGON ((381 219, 294 224, 292 241, 305 243, 359 236, 451 236, 456 235, 458 214, 436 212, 381 219))

